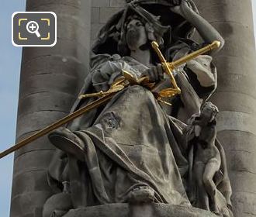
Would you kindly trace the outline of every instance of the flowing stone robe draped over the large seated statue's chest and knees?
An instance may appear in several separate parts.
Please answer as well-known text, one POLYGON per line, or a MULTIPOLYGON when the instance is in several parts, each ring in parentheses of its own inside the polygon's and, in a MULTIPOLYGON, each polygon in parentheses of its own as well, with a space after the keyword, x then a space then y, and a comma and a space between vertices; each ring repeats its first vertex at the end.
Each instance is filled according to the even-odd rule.
MULTIPOLYGON (((137 77, 147 70, 131 57, 99 55, 94 60, 81 93, 111 84, 121 69, 137 77), (105 83, 93 84, 93 74, 102 68, 110 68, 112 76, 105 83)), ((72 110, 93 100, 78 100, 72 110)), ((70 181, 74 208, 127 202, 129 192, 140 186, 154 190, 155 202, 190 205, 185 189, 189 163, 184 124, 168 116, 147 88, 129 86, 104 108, 82 115, 67 127, 84 141, 85 163, 58 151, 49 181, 56 192, 62 181, 70 181)))

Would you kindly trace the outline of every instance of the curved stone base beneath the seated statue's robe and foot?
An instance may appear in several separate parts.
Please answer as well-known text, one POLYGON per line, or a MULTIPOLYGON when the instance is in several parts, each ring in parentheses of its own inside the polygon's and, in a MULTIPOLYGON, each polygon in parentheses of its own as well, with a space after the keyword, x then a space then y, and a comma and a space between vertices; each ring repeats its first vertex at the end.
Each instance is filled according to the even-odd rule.
POLYGON ((199 208, 167 204, 109 204, 73 209, 64 217, 216 217, 199 208))

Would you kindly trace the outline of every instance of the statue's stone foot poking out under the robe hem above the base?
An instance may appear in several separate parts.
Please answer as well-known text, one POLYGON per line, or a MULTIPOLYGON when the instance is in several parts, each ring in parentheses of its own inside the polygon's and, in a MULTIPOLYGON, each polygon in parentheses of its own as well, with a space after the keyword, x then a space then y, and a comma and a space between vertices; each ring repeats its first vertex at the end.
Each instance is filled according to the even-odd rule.
POLYGON ((150 203, 154 202, 154 190, 148 186, 134 188, 128 195, 129 203, 150 203))

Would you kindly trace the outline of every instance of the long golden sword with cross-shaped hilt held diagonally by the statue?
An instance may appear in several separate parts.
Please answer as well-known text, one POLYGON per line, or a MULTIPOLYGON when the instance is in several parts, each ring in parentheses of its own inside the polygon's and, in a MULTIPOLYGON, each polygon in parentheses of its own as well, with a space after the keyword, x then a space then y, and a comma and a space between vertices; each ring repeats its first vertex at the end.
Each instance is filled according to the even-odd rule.
MULTIPOLYGON (((195 51, 193 53, 190 53, 189 55, 187 55, 185 57, 182 57, 179 60, 175 60, 174 62, 171 62, 171 63, 168 63, 164 59, 164 56, 161 54, 161 51, 159 50, 158 44, 156 42, 154 44, 152 43, 152 47, 154 47, 154 50, 157 52, 158 56, 161 58, 161 63, 164 66, 165 72, 168 73, 171 76, 171 79, 172 79, 171 83, 176 88, 175 90, 180 92, 180 89, 178 88, 178 86, 177 86, 177 84, 175 82, 175 77, 173 76, 171 71, 173 71, 175 69, 175 67, 179 67, 182 64, 185 64, 187 61, 192 60, 195 57, 198 57, 202 53, 206 53, 206 52, 208 52, 210 50, 213 50, 213 49, 216 49, 216 48, 220 47, 220 42, 215 41, 212 44, 210 44, 210 45, 208 45, 206 47, 203 47, 202 49, 197 50, 197 51, 195 51)), ((126 74, 125 77, 128 76, 128 75, 129 74, 126 74)), ((140 82, 141 82, 141 84, 143 84, 144 79, 142 79, 140 82)), ((50 126, 47 126, 46 128, 41 129, 39 132, 33 134, 32 136, 29 136, 26 139, 21 140, 19 143, 16 143, 15 146, 12 146, 9 149, 7 149, 7 150, 3 151, 2 153, 0 153, 0 159, 2 157, 5 157, 9 153, 12 153, 12 152, 14 152, 16 150, 19 150, 23 146, 26 146, 28 143, 33 142, 34 140, 40 138, 41 136, 47 135, 47 133, 50 133, 52 130, 57 129, 60 126, 63 126, 67 122, 70 122, 71 120, 78 118, 78 116, 85 114, 85 112, 88 112, 88 111, 92 110, 93 108, 97 108, 100 105, 104 105, 114 95, 116 95, 117 92, 123 90, 123 88, 126 88, 128 85, 129 85, 129 82, 127 82, 125 79, 123 79, 121 81, 115 82, 115 84, 113 84, 112 87, 107 92, 100 92, 99 95, 97 95, 97 93, 96 94, 92 94, 91 96, 102 96, 102 97, 99 98, 99 99, 96 99, 92 103, 89 103, 88 105, 86 105, 83 108, 79 108, 77 111, 71 113, 70 115, 65 116, 64 118, 58 120, 57 122, 54 122, 50 126)), ((81 96, 81 98, 83 98, 83 96, 81 96)))

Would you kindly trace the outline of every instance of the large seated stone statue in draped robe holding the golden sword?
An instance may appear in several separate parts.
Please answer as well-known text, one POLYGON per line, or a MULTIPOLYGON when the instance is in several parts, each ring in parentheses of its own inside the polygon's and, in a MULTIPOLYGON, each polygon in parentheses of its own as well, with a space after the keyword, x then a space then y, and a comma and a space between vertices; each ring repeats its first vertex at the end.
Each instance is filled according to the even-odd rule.
MULTIPOLYGON (((178 59, 203 46, 190 39, 194 26, 206 43, 220 40, 223 46, 220 34, 198 15, 190 0, 131 1, 100 31, 92 48, 92 71, 80 95, 108 91, 124 78, 123 71, 135 80, 147 77, 151 84, 161 82, 157 88, 170 86, 150 42, 157 41, 168 60, 178 59)), ((150 88, 133 84, 105 106, 50 133, 50 142, 59 149, 48 171, 56 195, 48 199, 43 216, 116 203, 191 207, 183 122, 199 112, 216 88, 211 61, 203 55, 174 72, 182 95, 171 98, 171 111, 157 102, 150 88)), ((71 112, 96 98, 78 98, 71 112)))

